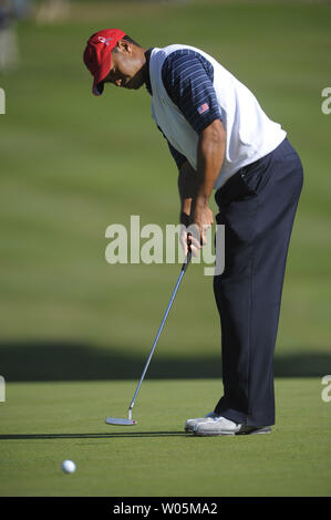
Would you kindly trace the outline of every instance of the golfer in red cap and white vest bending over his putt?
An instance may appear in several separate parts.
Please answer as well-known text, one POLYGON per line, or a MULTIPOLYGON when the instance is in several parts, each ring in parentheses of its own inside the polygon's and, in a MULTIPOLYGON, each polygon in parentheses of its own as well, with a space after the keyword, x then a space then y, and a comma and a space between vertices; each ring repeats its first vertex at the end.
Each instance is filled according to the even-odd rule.
POLYGON ((184 248, 196 254, 214 222, 225 225, 225 270, 214 277, 221 326, 224 395, 198 436, 270 433, 275 424, 273 351, 302 165, 280 124, 206 52, 174 44, 144 49, 120 29, 93 34, 84 51, 92 92, 106 83, 145 85, 152 115, 178 167, 180 223, 196 226, 184 248))

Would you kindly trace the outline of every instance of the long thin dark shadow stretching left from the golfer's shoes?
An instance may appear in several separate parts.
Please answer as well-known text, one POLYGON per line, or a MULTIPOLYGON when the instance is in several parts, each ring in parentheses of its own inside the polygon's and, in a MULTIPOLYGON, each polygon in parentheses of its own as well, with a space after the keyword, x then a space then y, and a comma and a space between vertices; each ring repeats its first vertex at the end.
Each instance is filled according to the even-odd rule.
POLYGON ((186 431, 120 431, 110 434, 8 434, 0 435, 0 440, 34 440, 34 439, 108 439, 122 437, 192 437, 186 431))

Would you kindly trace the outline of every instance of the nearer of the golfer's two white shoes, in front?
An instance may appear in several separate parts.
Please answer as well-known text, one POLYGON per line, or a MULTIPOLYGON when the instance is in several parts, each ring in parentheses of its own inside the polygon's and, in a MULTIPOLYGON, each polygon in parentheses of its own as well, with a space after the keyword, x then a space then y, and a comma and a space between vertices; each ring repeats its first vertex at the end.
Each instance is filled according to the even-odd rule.
POLYGON ((226 417, 216 416, 205 422, 196 423, 193 434, 198 436, 220 436, 220 435, 254 435, 270 434, 270 426, 247 426, 238 424, 226 417))

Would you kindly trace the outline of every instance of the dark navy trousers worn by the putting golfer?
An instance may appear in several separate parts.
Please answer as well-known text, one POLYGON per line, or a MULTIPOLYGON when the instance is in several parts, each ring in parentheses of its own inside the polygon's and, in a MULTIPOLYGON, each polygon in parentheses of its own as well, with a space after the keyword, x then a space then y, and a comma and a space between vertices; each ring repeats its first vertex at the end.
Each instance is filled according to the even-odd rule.
POLYGON ((275 424, 273 352, 293 219, 303 181, 286 138, 216 191, 225 270, 214 277, 224 396, 215 412, 248 426, 275 424))

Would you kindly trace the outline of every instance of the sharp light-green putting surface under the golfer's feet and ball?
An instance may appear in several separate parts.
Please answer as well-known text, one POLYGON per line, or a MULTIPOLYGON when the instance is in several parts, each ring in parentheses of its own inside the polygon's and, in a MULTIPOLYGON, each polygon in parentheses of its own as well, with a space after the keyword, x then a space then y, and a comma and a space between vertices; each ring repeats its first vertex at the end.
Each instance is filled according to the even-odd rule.
POLYGON ((217 379, 11 383, 0 404, 1 496, 330 496, 330 403, 321 381, 277 379, 269 435, 194 437, 186 418, 210 410, 217 379), (61 464, 76 464, 72 475, 61 464))

